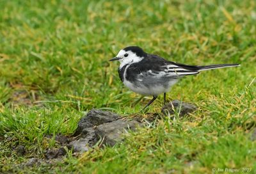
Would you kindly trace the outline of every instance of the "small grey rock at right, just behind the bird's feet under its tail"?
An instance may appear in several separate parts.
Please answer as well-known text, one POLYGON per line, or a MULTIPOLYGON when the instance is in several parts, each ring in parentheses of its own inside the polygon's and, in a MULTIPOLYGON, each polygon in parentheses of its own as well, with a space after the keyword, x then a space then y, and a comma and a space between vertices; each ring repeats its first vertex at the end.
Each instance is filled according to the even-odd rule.
POLYGON ((193 104, 181 102, 180 100, 173 100, 172 102, 165 104, 162 107, 162 113, 164 115, 168 115, 168 113, 170 113, 170 115, 173 115, 175 113, 173 109, 175 109, 177 112, 179 112, 180 109, 180 116, 184 116, 188 113, 192 113, 193 111, 195 111, 197 107, 193 104))

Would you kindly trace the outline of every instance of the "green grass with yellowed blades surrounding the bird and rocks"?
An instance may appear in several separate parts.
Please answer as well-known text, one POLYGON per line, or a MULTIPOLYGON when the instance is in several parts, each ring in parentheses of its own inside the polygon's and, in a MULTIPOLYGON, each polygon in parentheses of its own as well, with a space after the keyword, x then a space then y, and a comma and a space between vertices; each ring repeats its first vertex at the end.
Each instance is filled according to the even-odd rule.
MULTIPOLYGON (((0 173, 256 173, 255 1, 0 1, 0 173), (124 88, 120 49, 139 45, 191 65, 241 63, 186 77, 168 99, 198 111, 164 118, 114 147, 20 168, 56 147, 92 108, 136 113, 148 102, 124 88), (25 146, 26 155, 15 150, 25 146)), ((163 96, 150 112, 159 112, 163 96)))

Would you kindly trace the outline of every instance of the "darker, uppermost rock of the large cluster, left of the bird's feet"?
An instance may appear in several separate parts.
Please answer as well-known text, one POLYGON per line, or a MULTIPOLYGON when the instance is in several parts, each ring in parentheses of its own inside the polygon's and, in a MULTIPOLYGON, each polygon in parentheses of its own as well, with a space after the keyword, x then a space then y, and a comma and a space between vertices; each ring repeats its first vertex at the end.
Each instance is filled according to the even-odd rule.
POLYGON ((120 118, 120 116, 116 115, 115 113, 111 113, 109 111, 102 111, 100 109, 92 109, 87 113, 86 116, 83 116, 83 118, 81 118, 74 136, 81 134, 83 129, 93 127, 95 125, 100 125, 102 123, 113 122, 118 118, 120 118))

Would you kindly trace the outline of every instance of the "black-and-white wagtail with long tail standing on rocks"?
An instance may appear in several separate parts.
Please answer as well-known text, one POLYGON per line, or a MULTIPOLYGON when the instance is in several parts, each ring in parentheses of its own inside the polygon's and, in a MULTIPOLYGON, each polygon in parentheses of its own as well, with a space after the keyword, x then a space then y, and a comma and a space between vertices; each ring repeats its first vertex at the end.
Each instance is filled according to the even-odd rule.
POLYGON ((121 49, 117 56, 109 61, 115 60, 120 61, 118 74, 127 88, 141 95, 153 96, 153 99, 143 109, 152 104, 161 93, 164 93, 165 103, 166 92, 173 84, 177 83, 180 77, 198 74, 203 70, 239 66, 239 64, 184 65, 167 61, 154 54, 148 54, 137 46, 121 49))

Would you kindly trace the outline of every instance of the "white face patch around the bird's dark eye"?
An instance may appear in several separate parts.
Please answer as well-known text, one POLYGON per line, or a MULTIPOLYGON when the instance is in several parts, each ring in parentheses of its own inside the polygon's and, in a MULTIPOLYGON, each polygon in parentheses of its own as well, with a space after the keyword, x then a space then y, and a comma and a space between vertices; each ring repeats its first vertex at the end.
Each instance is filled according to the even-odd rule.
POLYGON ((118 52, 116 57, 121 58, 121 59, 119 59, 119 61, 120 61, 120 67, 119 68, 122 68, 122 67, 124 67, 124 65, 127 65, 129 63, 139 62, 143 59, 143 58, 137 56, 134 52, 124 51, 123 49, 118 52), (125 57, 124 56, 125 54, 128 54, 128 56, 125 57))

